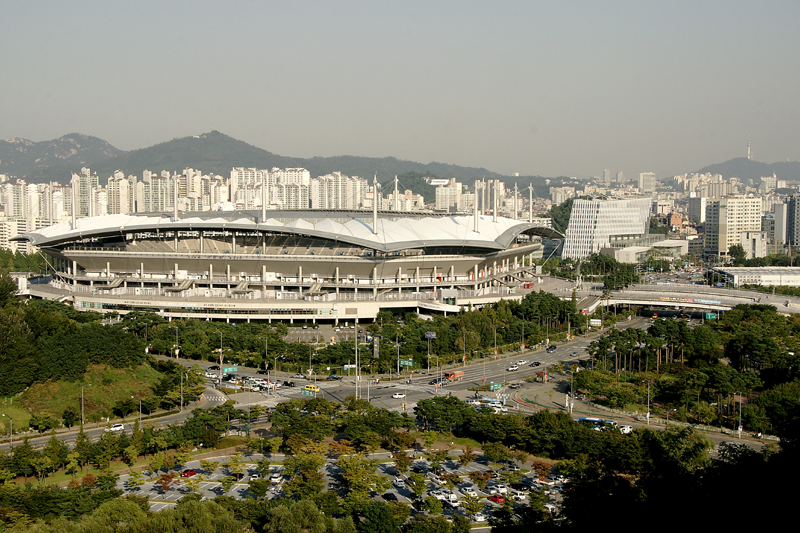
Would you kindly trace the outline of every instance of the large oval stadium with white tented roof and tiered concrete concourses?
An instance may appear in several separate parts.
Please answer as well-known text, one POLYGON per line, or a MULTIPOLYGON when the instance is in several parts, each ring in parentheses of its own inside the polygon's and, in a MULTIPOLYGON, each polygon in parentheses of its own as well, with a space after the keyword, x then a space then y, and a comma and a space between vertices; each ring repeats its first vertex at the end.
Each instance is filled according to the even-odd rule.
POLYGON ((549 219, 239 211, 73 219, 17 237, 50 276, 31 297, 206 320, 339 323, 381 309, 457 312, 514 297, 549 219))

